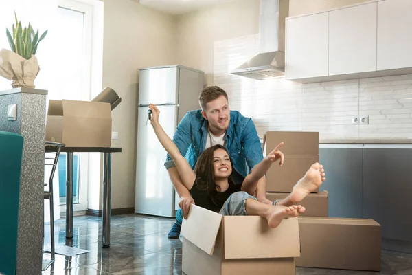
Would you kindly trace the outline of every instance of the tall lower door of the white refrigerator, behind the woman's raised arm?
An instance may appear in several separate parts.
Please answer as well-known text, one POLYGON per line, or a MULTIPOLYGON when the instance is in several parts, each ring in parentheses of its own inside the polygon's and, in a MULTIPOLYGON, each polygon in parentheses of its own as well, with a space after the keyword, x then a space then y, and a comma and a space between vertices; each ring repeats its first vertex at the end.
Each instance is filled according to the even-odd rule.
MULTIPOLYGON (((177 107, 159 106, 159 122, 170 138, 176 130, 177 107)), ((137 170, 135 212, 161 217, 174 217, 174 188, 164 163, 166 151, 155 131, 146 126, 148 107, 139 107, 137 129, 137 170)))

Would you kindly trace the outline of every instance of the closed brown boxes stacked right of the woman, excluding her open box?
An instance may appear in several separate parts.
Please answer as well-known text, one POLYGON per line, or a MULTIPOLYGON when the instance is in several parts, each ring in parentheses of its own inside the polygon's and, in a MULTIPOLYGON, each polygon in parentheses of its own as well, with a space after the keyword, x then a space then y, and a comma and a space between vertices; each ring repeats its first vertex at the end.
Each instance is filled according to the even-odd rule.
MULTIPOLYGON (((264 155, 284 142, 280 148, 284 165, 272 165, 266 177, 266 197, 275 201, 286 197, 306 170, 319 162, 319 133, 268 132, 265 142, 264 155)), ((325 173, 328 178, 328 171, 325 173)), ((296 258, 297 267, 380 271, 379 223, 329 218, 328 193, 319 190, 300 204, 306 212, 298 218, 301 255, 296 258)))

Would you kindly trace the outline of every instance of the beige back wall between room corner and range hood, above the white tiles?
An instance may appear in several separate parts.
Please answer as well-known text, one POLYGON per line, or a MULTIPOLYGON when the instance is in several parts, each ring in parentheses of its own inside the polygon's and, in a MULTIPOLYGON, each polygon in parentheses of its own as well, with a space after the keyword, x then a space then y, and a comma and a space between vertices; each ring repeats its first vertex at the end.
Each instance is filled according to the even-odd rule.
POLYGON ((259 32, 259 1, 237 0, 177 17, 177 61, 213 82, 214 41, 259 32))

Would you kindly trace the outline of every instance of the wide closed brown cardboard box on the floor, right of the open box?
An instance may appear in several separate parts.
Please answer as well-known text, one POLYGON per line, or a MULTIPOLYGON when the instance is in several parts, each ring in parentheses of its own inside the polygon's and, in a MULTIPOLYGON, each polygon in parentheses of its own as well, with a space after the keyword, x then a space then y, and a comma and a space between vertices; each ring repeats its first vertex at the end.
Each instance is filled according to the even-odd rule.
POLYGON ((297 267, 380 271, 380 224, 373 219, 299 217, 297 267))

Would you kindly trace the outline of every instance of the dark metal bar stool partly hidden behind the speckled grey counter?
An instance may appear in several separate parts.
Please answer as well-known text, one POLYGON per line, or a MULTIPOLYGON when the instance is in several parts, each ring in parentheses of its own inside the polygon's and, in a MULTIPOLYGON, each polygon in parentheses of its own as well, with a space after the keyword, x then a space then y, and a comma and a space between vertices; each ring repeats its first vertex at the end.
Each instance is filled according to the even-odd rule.
MULTIPOLYGON (((54 261, 54 201, 53 201, 53 177, 54 172, 56 171, 56 166, 58 162, 58 157, 60 155, 60 151, 65 144, 58 143, 58 142, 45 142, 46 147, 52 147, 55 150, 52 152, 47 152, 45 155, 45 165, 52 166, 52 172, 50 173, 49 178, 49 190, 44 191, 44 198, 49 199, 50 201, 50 239, 52 241, 52 261, 54 261), (47 157, 50 153, 54 154, 54 157, 47 157)), ((47 186, 47 183, 45 183, 47 186)))

